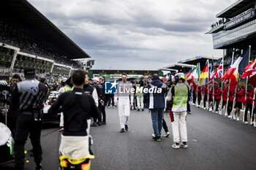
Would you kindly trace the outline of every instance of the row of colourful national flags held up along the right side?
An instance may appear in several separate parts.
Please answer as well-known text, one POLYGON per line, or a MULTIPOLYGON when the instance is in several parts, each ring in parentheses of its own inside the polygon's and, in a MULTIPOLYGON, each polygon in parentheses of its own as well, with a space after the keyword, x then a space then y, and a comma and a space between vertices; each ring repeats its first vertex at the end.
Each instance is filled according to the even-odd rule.
POLYGON ((249 53, 250 48, 244 50, 236 61, 233 63, 232 59, 230 65, 228 66, 227 72, 223 75, 223 61, 219 63, 218 68, 214 72, 214 60, 211 64, 206 62, 206 66, 203 72, 200 74, 200 65, 194 69, 190 69, 189 73, 185 77, 187 82, 196 83, 199 79, 199 85, 206 85, 206 78, 208 78, 208 83, 213 83, 214 79, 220 78, 222 82, 230 82, 230 88, 235 88, 238 83, 239 74, 242 74, 241 78, 249 77, 250 83, 256 87, 256 60, 249 63, 249 53))

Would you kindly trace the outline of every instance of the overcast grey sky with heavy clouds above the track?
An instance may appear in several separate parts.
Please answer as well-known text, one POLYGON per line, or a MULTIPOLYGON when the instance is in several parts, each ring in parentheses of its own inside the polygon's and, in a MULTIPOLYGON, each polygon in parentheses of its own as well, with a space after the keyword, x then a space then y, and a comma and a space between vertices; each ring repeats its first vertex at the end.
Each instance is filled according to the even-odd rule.
POLYGON ((95 59, 93 69, 160 69, 222 56, 205 34, 235 0, 29 0, 95 59))

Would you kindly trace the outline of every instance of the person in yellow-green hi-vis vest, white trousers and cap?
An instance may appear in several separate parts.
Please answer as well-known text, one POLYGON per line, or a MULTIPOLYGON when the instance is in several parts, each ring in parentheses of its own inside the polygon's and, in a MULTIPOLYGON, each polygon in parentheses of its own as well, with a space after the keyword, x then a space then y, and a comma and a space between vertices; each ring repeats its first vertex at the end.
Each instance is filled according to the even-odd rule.
POLYGON ((184 74, 176 75, 176 85, 168 93, 167 100, 173 98, 173 148, 187 148, 187 100, 189 98, 189 88, 184 84, 184 74), (181 144, 179 131, 181 131, 181 144))

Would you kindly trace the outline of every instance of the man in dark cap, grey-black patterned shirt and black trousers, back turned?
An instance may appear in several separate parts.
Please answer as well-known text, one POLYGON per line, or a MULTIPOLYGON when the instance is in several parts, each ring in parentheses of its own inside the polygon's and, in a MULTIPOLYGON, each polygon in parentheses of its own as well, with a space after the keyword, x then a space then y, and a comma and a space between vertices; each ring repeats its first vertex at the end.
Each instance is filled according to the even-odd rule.
POLYGON ((47 98, 48 88, 35 79, 34 69, 24 69, 24 76, 26 80, 17 84, 11 98, 12 106, 19 105, 19 115, 15 128, 15 168, 23 169, 24 145, 30 134, 36 169, 42 169, 40 135, 42 109, 47 98))

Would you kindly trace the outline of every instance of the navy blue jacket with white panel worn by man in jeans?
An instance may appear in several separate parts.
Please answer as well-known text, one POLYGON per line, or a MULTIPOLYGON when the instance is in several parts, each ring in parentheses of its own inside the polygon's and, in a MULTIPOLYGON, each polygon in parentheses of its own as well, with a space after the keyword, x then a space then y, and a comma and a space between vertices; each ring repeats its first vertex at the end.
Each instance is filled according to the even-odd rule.
MULTIPOLYGON (((146 88, 159 88, 162 89, 161 93, 157 93, 157 90, 154 90, 153 93, 144 93, 144 101, 146 103, 145 108, 147 109, 164 109, 166 107, 166 98, 167 95, 167 85, 161 80, 152 81, 146 88)), ((145 91, 144 91, 145 92, 145 91)))

